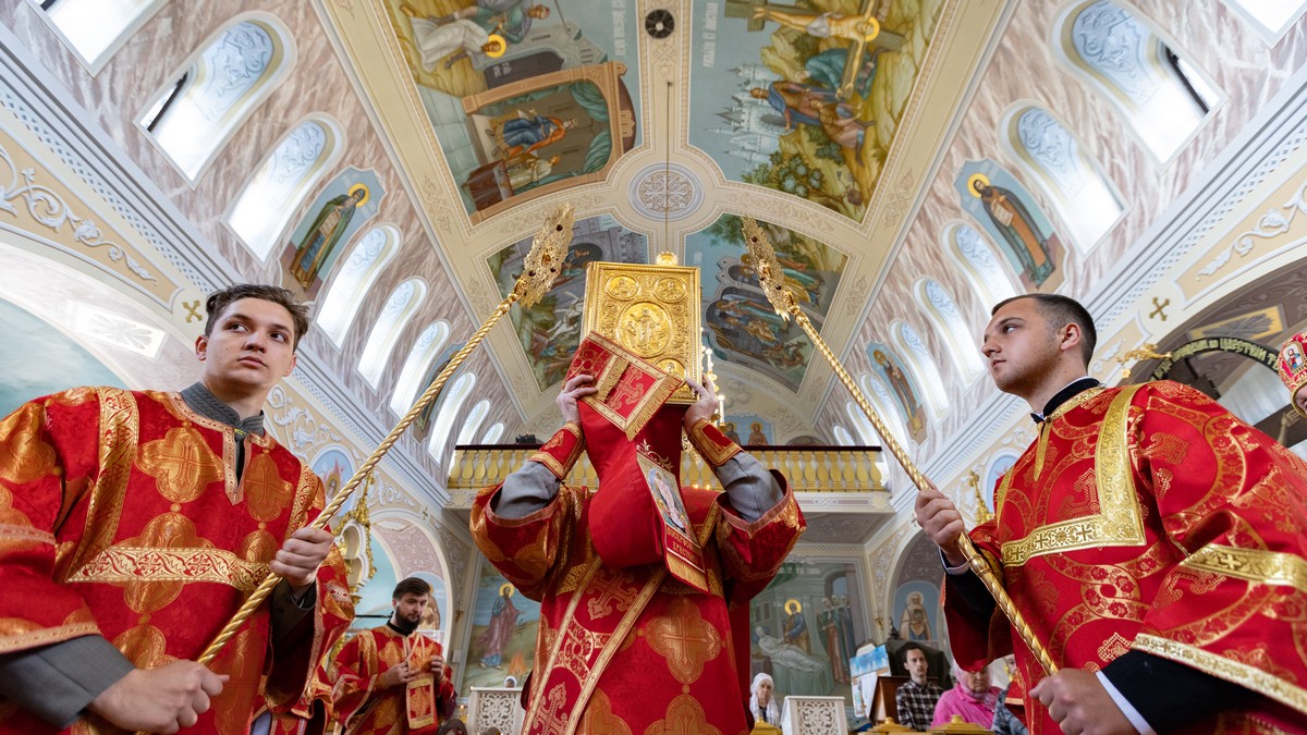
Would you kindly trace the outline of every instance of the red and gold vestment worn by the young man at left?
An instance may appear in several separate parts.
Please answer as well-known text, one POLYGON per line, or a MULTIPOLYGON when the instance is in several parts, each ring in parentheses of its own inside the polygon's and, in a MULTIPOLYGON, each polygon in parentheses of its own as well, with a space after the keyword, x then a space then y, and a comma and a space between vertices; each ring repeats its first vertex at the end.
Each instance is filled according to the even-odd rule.
MULTIPOLYGON (((98 634, 139 668, 199 658, 282 541, 323 507, 322 481, 271 437, 246 436, 239 483, 235 456, 235 430, 173 392, 74 388, 9 415, 0 654, 98 634)), ((210 664, 230 680, 188 732, 247 732, 264 708, 307 714, 314 667, 353 617, 335 551, 316 595, 274 642, 260 607, 210 664)), ((0 705, 0 732, 54 730, 0 705)), ((116 728, 86 717, 71 731, 116 728)))

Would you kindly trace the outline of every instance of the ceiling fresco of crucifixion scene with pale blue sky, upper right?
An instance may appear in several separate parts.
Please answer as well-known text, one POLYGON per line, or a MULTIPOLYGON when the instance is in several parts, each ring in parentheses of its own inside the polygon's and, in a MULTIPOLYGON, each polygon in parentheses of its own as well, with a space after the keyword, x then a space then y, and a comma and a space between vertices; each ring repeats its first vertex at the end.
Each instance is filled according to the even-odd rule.
POLYGON ((697 3, 690 143, 731 179, 861 220, 944 0, 697 3))

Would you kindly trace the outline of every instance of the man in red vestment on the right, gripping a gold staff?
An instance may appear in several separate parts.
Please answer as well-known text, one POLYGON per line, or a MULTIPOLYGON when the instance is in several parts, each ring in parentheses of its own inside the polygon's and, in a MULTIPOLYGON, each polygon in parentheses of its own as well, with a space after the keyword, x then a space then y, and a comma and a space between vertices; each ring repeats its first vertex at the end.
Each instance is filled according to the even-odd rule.
POLYGON ((916 518, 949 568, 958 663, 1016 646, 1034 735, 1303 732, 1307 467, 1189 387, 1099 386, 1094 341, 1085 309, 1052 294, 1000 303, 985 328, 989 374, 1038 437, 971 538, 1060 671, 991 626, 962 518, 929 490, 916 518))

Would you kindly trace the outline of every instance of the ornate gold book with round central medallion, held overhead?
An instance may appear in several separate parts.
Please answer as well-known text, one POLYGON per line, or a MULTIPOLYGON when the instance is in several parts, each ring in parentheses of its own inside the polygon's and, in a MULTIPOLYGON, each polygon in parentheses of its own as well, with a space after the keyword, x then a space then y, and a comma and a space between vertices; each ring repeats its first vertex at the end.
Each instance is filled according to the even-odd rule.
MULTIPOLYGON (((699 381, 699 301, 698 268, 591 263, 582 335, 603 335, 665 373, 699 381)), ((681 386, 668 403, 695 400, 681 386)))

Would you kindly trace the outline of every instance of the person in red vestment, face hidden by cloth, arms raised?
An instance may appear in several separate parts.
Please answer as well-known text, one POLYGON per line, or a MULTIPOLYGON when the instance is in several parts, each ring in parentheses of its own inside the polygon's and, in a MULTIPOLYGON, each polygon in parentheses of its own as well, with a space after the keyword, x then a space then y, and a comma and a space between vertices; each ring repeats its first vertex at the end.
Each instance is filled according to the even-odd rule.
POLYGON ((712 426, 711 385, 665 405, 681 385, 591 333, 557 399, 563 428, 473 505, 477 545, 540 602, 527 734, 748 730, 749 599, 804 521, 784 477, 712 426), (682 429, 725 492, 655 498, 651 472, 680 488, 682 429), (561 485, 582 451, 595 492, 561 485))

